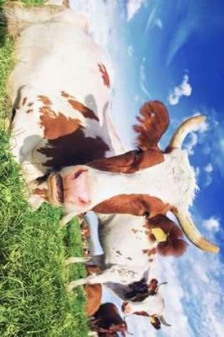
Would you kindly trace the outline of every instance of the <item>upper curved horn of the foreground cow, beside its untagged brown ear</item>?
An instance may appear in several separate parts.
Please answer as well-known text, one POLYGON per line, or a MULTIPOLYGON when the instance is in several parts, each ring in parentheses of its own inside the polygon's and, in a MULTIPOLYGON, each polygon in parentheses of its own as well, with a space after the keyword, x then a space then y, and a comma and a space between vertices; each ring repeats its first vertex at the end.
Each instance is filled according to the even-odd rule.
POLYGON ((178 127, 174 136, 171 138, 169 143, 169 149, 181 148, 183 140, 186 138, 189 132, 193 131, 198 124, 201 124, 203 121, 206 121, 206 116, 194 116, 188 118, 185 122, 178 127))

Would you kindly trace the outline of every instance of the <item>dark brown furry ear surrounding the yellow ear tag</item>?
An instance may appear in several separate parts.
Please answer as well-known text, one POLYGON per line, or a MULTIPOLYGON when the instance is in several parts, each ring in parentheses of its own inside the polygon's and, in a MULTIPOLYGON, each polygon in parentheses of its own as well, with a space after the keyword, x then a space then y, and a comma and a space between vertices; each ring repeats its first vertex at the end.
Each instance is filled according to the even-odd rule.
MULTIPOLYGON (((183 240, 183 231, 165 214, 158 214, 151 219, 147 219, 146 226, 149 230, 151 228, 161 228, 167 235, 166 241, 157 245, 156 249, 160 255, 177 257, 185 253, 188 244, 183 240)), ((149 239, 156 241, 152 233, 149 234, 149 239)))

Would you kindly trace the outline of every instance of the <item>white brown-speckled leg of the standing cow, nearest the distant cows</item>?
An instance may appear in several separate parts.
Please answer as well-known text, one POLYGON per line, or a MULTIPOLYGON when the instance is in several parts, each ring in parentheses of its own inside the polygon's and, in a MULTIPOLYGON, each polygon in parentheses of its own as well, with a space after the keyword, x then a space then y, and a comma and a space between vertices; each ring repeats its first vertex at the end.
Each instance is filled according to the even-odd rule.
POLYGON ((112 265, 107 268, 103 272, 97 275, 90 275, 88 277, 82 278, 80 280, 76 280, 70 282, 68 284, 68 291, 72 291, 75 287, 83 284, 95 284, 95 283, 107 283, 107 282, 115 282, 121 284, 129 284, 134 280, 139 280, 139 273, 134 272, 133 270, 128 270, 126 267, 112 265))

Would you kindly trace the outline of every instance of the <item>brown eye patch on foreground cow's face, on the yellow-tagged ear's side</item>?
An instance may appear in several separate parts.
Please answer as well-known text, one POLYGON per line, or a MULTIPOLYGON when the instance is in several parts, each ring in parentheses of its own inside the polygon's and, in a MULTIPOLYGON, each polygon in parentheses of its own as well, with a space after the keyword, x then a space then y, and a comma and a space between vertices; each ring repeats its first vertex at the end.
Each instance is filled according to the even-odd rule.
POLYGON ((93 211, 102 214, 118 213, 137 216, 142 216, 144 211, 148 211, 149 216, 153 217, 156 214, 166 214, 169 211, 169 204, 147 194, 120 194, 97 204, 93 211))

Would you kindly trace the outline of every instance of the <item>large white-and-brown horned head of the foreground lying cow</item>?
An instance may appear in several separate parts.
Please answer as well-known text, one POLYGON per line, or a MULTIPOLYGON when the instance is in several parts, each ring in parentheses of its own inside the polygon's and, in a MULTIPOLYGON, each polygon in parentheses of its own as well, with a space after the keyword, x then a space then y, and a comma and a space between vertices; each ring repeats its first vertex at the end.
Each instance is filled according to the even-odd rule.
POLYGON ((92 209, 151 218, 172 211, 192 243, 218 253, 218 247, 198 232, 188 212, 197 185, 187 152, 181 149, 186 135, 205 117, 194 116, 181 124, 164 151, 158 146, 169 125, 164 104, 144 104, 137 120, 137 150, 54 172, 48 178, 49 201, 63 206, 67 214, 92 209))

